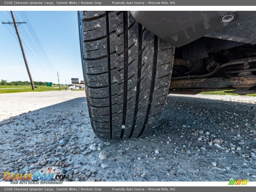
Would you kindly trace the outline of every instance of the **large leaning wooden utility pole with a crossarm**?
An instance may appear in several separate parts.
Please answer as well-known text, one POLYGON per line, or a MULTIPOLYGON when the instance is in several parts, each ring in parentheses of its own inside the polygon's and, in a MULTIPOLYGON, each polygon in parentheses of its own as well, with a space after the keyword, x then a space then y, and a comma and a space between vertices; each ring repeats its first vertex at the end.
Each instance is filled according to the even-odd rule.
POLYGON ((17 33, 17 36, 18 36, 18 39, 19 39, 19 45, 21 46, 23 59, 24 59, 24 62, 25 62, 26 68, 27 68, 27 73, 29 74, 30 84, 31 84, 32 90, 35 90, 34 82, 32 80, 31 74, 30 74, 30 70, 29 70, 29 66, 27 64, 25 51, 23 49, 21 37, 19 35, 19 30, 18 30, 18 26, 17 26, 17 24, 26 23, 26 22, 16 22, 13 11, 11 11, 11 17, 13 18, 13 23, 11 23, 11 22, 2 22, 2 24, 14 24, 14 27, 15 27, 15 30, 16 30, 16 33, 17 33))

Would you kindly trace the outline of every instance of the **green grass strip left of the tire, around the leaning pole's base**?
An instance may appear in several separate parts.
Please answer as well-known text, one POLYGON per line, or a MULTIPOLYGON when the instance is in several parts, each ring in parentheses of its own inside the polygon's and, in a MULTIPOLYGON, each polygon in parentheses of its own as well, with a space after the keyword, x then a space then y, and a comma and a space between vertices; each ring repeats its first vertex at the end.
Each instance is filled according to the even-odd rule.
MULTIPOLYGON (((66 87, 61 87, 61 90, 65 90, 66 87)), ((33 91, 31 86, 0 86, 1 93, 21 93, 21 92, 38 92, 38 91, 59 91, 58 86, 47 87, 47 86, 38 86, 33 91), (1 89, 3 88, 3 89, 1 89)))

